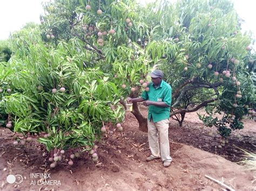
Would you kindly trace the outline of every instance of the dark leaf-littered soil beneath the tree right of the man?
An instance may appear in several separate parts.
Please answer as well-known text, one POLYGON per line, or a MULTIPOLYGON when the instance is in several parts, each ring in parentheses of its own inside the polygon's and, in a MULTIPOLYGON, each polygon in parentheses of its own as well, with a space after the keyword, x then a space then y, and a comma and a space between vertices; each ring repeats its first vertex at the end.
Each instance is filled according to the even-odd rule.
MULTIPOLYGON (((199 111, 199 113, 204 113, 199 111)), ((216 116, 220 117, 220 115, 216 116)), ((239 162, 244 154, 239 148, 256 152, 256 123, 246 119, 244 129, 232 131, 227 139, 228 143, 223 148, 218 148, 220 140, 224 140, 217 134, 215 127, 207 127, 200 121, 196 112, 185 116, 183 127, 179 127, 174 120, 170 122, 170 137, 173 141, 192 145, 214 154, 218 154, 230 161, 239 162)))

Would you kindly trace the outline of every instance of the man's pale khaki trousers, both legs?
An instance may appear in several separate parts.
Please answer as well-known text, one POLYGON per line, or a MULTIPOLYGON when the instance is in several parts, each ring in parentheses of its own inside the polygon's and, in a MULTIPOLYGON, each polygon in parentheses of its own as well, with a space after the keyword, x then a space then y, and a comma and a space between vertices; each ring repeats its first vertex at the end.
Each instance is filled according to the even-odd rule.
POLYGON ((164 119, 160 122, 154 123, 153 120, 147 120, 149 146, 151 150, 151 156, 154 158, 160 158, 162 161, 171 161, 170 157, 170 144, 169 144, 169 119, 164 119), (160 136, 160 150, 158 143, 158 135, 160 136))

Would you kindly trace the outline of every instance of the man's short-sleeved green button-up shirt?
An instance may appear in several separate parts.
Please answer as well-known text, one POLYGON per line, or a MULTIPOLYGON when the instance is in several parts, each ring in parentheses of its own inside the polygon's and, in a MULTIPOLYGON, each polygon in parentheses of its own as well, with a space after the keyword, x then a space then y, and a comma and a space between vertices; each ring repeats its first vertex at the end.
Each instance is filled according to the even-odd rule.
MULTIPOLYGON (((144 91, 142 94, 144 100, 149 100, 153 102, 165 102, 171 107, 172 101, 172 88, 164 80, 161 81, 158 88, 154 88, 153 83, 149 84, 149 91, 144 91)), ((147 118, 150 120, 151 115, 153 122, 159 122, 164 119, 169 119, 170 117, 170 107, 157 107, 154 105, 149 105, 149 114, 147 118)))

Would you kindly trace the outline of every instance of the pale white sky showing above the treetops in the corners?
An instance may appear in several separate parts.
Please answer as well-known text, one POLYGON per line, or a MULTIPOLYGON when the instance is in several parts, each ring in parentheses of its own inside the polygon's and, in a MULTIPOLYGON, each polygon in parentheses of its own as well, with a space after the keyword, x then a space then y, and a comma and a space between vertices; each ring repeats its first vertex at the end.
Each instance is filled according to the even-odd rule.
MULTIPOLYGON (((43 0, 49 1, 49 0, 43 0)), ((154 0, 138 0, 152 2, 154 0)), ((245 20, 242 25, 243 31, 251 30, 256 36, 256 23, 254 11, 256 7, 255 0, 233 0, 234 8, 239 16, 245 20)), ((43 13, 42 0, 0 0, 0 40, 7 39, 10 32, 21 29, 28 22, 40 22, 39 16, 43 13)))

